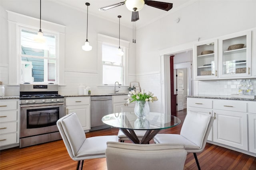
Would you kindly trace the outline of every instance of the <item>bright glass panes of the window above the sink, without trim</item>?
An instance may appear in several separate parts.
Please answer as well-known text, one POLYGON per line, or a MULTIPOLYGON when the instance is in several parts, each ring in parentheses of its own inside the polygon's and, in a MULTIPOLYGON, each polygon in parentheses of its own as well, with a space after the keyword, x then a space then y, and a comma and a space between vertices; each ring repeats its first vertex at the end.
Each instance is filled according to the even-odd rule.
POLYGON ((124 84, 124 56, 118 55, 118 47, 102 44, 102 83, 124 84))

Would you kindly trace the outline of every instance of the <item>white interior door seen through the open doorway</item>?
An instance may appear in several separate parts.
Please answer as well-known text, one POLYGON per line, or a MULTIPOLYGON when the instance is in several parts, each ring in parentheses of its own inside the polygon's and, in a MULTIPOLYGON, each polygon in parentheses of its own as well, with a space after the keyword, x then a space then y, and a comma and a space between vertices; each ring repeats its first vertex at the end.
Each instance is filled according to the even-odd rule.
POLYGON ((176 83, 177 83, 177 102, 178 102, 178 107, 177 111, 183 110, 183 96, 184 96, 184 84, 183 84, 183 70, 177 69, 176 72, 176 83))

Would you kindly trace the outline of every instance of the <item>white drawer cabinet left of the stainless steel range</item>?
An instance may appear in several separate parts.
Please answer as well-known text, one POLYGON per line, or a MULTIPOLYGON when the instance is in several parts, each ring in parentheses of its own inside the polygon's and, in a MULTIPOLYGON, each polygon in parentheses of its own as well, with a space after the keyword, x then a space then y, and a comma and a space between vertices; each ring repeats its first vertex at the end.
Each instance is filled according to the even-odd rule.
POLYGON ((0 147, 7 149, 8 146, 19 145, 19 100, 0 100, 0 147))

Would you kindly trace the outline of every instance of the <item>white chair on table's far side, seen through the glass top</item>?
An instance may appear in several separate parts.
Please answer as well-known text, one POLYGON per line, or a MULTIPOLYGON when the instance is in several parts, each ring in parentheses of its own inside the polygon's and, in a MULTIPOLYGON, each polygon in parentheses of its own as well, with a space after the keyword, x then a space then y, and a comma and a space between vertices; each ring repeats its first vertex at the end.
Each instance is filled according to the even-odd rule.
MULTIPOLYGON (((121 112, 134 112, 134 106, 120 106, 121 112)), ((146 130, 134 130, 134 133, 138 137, 138 139, 141 141, 141 139, 144 137, 146 130)), ((118 138, 120 142, 129 141, 130 139, 121 131, 118 131, 118 138)))

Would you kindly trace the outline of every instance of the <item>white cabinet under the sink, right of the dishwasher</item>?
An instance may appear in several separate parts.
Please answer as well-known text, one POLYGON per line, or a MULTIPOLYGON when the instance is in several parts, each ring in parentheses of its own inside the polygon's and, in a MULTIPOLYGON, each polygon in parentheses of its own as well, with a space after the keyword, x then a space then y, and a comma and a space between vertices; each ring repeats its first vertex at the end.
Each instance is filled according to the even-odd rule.
POLYGON ((127 95, 116 95, 112 96, 113 113, 121 112, 120 106, 135 106, 135 103, 127 104, 127 95))

